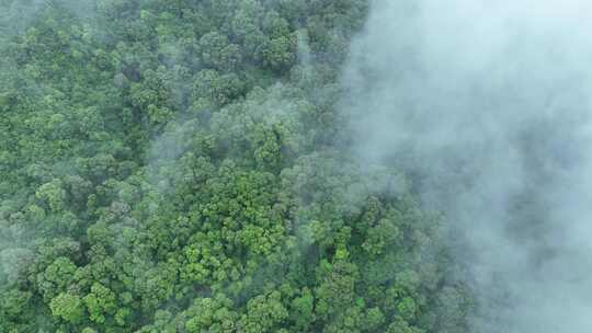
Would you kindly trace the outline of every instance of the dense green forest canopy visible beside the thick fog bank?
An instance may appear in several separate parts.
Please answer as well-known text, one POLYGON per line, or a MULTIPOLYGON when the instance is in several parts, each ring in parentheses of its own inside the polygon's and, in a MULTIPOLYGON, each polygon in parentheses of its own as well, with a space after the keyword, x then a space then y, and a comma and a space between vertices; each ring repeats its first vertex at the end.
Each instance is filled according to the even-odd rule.
POLYGON ((0 4, 0 332, 465 331, 439 216, 345 153, 366 1, 0 4))

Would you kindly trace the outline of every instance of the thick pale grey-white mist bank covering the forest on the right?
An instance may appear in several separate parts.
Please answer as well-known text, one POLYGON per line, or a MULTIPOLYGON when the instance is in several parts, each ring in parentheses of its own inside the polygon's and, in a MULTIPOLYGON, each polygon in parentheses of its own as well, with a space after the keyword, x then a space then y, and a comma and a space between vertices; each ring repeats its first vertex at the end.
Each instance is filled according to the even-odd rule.
POLYGON ((342 74, 352 154, 441 210, 471 332, 592 329, 592 3, 374 1, 342 74))

